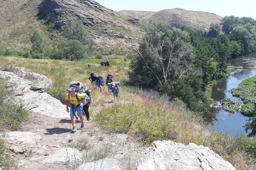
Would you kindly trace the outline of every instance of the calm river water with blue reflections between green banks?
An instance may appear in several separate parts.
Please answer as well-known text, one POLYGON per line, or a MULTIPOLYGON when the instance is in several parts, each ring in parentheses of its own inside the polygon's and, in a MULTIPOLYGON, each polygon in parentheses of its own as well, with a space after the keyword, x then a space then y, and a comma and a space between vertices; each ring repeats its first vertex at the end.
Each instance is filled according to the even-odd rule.
MULTIPOLYGON (((212 88, 212 98, 214 101, 232 98, 242 103, 239 98, 233 97, 228 90, 238 87, 244 79, 256 75, 256 53, 228 60, 228 68, 232 71, 231 75, 217 81, 217 84, 212 88)), ((240 112, 229 113, 220 107, 212 107, 206 118, 212 130, 224 131, 234 137, 245 133, 243 126, 247 123, 246 119, 248 119, 240 112)))

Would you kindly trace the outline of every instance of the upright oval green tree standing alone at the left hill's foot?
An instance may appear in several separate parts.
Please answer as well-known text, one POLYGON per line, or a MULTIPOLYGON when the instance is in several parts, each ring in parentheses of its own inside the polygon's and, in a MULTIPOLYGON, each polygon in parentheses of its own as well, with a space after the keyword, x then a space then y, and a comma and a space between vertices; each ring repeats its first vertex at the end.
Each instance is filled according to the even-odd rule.
POLYGON ((37 28, 34 32, 33 35, 30 37, 31 41, 31 53, 36 54, 36 53, 43 53, 44 52, 44 47, 46 46, 46 41, 44 37, 44 32, 37 28))

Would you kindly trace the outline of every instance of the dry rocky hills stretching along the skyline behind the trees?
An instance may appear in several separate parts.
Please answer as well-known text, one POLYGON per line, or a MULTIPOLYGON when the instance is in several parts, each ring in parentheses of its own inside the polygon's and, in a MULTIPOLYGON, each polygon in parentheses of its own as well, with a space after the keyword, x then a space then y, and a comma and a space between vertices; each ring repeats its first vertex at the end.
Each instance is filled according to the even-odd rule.
POLYGON ((30 49, 29 36, 36 28, 44 31, 49 44, 54 44, 63 39, 62 25, 68 20, 81 19, 97 51, 104 55, 126 55, 143 34, 138 26, 139 19, 163 19, 169 26, 207 31, 211 23, 219 23, 222 18, 179 8, 116 12, 93 0, 0 0, 0 3, 0 47, 15 50, 30 49))

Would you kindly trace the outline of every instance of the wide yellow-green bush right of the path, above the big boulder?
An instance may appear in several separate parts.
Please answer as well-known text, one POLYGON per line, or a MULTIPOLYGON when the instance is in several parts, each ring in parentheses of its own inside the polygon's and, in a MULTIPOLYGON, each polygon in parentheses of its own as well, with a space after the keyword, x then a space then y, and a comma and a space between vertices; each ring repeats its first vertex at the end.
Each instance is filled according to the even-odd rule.
POLYGON ((108 127, 113 132, 132 132, 143 142, 177 138, 180 125, 173 115, 163 108, 143 108, 135 104, 117 104, 104 109, 96 115, 101 127, 108 127))

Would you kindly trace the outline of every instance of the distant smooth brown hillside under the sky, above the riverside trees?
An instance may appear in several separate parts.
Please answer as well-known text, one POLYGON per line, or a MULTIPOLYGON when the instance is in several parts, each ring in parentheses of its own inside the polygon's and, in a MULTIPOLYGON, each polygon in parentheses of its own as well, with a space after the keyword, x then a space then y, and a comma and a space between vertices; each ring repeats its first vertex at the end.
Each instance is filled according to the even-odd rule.
POLYGON ((164 20, 169 26, 185 26, 208 31, 211 23, 220 23, 223 17, 209 12, 188 11, 175 8, 158 11, 144 18, 164 20))

